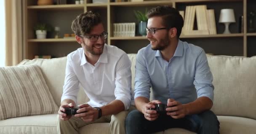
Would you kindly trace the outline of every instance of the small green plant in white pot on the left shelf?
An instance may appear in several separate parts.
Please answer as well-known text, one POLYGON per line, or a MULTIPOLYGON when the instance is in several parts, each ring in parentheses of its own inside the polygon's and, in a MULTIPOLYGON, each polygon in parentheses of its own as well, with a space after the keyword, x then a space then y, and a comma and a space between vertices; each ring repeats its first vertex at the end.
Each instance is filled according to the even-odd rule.
POLYGON ((45 39, 47 31, 51 31, 51 26, 45 23, 37 23, 34 29, 37 39, 45 39))

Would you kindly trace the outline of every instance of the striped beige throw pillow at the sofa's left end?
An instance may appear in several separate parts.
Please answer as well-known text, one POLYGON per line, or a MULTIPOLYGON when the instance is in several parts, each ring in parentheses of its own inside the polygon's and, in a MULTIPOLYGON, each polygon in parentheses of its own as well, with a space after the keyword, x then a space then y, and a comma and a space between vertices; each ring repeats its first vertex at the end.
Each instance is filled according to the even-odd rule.
POLYGON ((56 113, 53 101, 38 66, 0 67, 0 120, 56 113))

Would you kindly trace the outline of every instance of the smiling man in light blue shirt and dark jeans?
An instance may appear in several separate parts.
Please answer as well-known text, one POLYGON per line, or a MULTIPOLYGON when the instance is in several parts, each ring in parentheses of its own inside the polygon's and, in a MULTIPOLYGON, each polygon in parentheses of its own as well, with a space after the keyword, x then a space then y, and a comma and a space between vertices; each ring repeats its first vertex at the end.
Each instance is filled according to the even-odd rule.
POLYGON ((183 128, 219 134, 213 106, 213 76, 204 50, 179 40, 183 19, 169 6, 148 12, 150 44, 136 57, 135 105, 126 120, 126 134, 148 134, 183 128), (153 101, 149 101, 152 88, 153 101), (154 104, 167 104, 160 113, 154 104))

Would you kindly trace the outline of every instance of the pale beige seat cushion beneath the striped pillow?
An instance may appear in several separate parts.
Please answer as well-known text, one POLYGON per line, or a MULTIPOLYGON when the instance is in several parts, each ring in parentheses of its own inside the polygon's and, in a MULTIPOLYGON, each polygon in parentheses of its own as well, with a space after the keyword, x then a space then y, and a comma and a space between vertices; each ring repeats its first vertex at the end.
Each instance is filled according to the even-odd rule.
POLYGON ((0 121, 0 134, 57 134, 57 114, 16 117, 0 121))

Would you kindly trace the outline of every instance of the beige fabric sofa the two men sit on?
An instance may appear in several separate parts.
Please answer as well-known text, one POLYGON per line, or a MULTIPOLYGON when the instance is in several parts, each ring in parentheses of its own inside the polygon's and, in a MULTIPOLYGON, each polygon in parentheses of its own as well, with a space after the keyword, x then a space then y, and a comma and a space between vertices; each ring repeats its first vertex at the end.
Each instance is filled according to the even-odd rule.
MULTIPOLYGON (((136 54, 132 61, 132 87, 136 54)), ((24 60, 19 65, 40 66, 57 106, 60 106, 67 57, 24 60)), ((214 106, 221 134, 256 134, 256 57, 208 56, 213 73, 214 106)), ((80 90, 78 102, 88 98, 80 90)), ((56 134, 57 114, 16 117, 0 121, 0 134, 56 134)), ((80 134, 110 134, 108 123, 90 124, 80 134)), ((157 134, 194 134, 184 129, 168 129, 157 134)))

